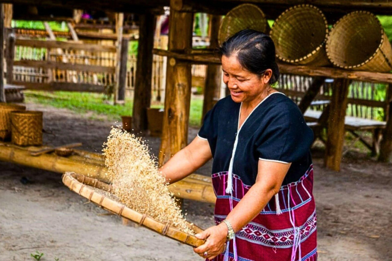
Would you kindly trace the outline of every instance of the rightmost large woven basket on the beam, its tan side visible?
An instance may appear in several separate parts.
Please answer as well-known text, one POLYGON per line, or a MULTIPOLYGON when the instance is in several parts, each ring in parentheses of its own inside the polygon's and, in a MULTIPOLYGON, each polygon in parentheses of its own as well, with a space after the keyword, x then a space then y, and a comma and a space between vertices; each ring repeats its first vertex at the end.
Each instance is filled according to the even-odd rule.
POLYGON ((370 12, 355 11, 340 18, 328 35, 326 50, 332 64, 340 68, 392 70, 392 48, 380 21, 370 12))

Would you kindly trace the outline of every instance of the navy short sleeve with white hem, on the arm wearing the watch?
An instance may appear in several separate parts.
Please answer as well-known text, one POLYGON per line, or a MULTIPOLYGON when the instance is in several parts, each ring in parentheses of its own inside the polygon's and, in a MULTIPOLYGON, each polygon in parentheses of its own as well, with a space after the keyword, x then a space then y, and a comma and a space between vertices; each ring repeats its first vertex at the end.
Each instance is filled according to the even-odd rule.
POLYGON ((313 143, 313 131, 307 126, 301 111, 284 105, 271 116, 259 135, 256 150, 259 160, 292 163, 302 159, 313 143))

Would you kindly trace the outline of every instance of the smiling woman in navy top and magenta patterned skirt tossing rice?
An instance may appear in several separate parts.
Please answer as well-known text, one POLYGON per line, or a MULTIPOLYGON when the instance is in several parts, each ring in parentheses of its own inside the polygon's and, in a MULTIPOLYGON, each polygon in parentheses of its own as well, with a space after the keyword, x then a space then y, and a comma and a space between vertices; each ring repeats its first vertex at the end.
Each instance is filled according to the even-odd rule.
POLYGON ((271 38, 243 30, 220 47, 230 96, 207 113, 198 137, 161 171, 178 181, 213 158, 215 222, 194 249, 209 260, 316 260, 313 133, 271 85, 279 78, 271 38))

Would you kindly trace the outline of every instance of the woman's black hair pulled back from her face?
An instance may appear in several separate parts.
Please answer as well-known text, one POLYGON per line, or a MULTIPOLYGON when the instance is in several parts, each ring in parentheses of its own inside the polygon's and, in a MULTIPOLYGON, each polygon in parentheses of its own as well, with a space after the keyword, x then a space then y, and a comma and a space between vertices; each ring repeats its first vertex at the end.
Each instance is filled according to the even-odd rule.
POLYGON ((275 60, 275 44, 268 35, 256 30, 245 29, 229 37, 218 53, 230 57, 236 55, 240 65, 248 71, 262 76, 267 69, 272 70, 269 84, 279 79, 279 68, 275 60))

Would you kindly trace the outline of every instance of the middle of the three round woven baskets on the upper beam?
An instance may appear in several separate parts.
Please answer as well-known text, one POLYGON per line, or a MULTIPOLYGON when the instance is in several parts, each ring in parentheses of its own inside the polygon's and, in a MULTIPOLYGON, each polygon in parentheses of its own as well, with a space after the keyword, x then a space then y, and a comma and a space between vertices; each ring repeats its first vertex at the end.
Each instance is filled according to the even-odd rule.
POLYGON ((315 6, 299 5, 284 11, 274 22, 271 38, 276 57, 286 63, 309 66, 328 65, 325 41, 328 23, 315 6))

